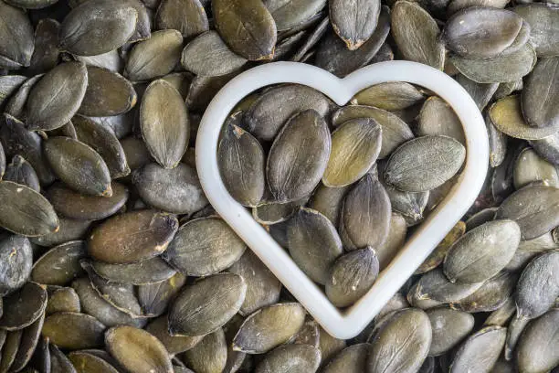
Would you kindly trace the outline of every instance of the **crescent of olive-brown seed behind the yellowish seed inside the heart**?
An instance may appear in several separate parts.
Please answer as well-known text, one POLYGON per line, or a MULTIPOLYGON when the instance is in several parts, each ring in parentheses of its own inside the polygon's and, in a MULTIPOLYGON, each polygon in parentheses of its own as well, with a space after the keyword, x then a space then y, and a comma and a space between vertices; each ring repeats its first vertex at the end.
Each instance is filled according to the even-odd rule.
POLYGON ((382 129, 382 141, 381 151, 378 155, 379 159, 386 158, 396 150, 399 145, 414 138, 414 133, 412 133, 407 123, 402 121, 396 114, 372 106, 344 106, 337 112, 334 112, 332 123, 334 126, 340 126, 343 125, 343 123, 357 118, 373 118, 376 123, 380 124, 382 129))

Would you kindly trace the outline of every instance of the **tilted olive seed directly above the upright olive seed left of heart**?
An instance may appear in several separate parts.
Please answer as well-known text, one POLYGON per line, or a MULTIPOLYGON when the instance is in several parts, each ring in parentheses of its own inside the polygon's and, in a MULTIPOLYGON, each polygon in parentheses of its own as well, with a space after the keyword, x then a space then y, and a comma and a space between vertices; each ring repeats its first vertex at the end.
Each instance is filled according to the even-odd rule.
POLYGON ((132 81, 153 80, 173 71, 181 59, 183 36, 177 30, 155 31, 137 43, 128 56, 124 76, 132 81))

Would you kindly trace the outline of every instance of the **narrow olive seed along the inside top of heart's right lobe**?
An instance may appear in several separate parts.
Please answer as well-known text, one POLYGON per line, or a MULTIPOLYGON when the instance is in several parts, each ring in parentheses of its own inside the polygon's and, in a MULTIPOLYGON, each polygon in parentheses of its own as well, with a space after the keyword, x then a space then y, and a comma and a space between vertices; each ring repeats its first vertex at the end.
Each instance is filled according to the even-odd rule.
POLYGON ((393 112, 407 109, 424 99, 423 93, 413 85, 403 81, 389 81, 360 91, 353 97, 352 104, 374 106, 393 112))

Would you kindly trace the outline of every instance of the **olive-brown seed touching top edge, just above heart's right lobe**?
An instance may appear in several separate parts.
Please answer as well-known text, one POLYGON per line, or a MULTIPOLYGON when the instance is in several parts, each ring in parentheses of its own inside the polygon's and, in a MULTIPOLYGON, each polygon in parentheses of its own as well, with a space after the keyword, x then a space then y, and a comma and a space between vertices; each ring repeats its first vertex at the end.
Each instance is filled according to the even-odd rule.
POLYGON ((445 48, 437 22, 417 3, 397 1, 392 8, 392 35, 406 59, 442 70, 445 48))

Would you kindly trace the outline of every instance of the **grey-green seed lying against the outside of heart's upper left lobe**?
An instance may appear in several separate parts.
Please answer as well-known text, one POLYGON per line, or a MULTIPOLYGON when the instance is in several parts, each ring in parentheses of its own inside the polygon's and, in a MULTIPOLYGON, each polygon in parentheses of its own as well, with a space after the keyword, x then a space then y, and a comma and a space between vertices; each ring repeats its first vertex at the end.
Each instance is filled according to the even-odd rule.
POLYGON ((181 58, 181 64, 187 71, 209 77, 226 75, 246 63, 247 59, 227 48, 216 31, 208 31, 188 43, 181 58))

